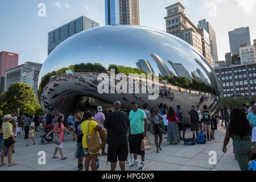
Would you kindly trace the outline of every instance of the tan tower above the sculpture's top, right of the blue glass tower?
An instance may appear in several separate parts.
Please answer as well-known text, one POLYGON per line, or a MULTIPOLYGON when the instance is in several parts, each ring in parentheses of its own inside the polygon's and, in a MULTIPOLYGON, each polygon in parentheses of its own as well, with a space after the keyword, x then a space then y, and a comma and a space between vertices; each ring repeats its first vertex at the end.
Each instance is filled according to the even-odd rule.
POLYGON ((139 25, 139 0, 119 0, 120 24, 139 25))

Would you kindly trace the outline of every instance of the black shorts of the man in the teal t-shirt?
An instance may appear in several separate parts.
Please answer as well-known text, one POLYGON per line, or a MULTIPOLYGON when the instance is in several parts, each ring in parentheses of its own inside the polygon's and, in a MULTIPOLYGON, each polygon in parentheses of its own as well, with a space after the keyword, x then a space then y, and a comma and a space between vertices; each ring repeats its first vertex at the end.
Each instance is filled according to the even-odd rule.
POLYGON ((142 139, 143 139, 143 134, 129 136, 130 154, 136 153, 137 155, 145 155, 145 152, 141 151, 142 139))

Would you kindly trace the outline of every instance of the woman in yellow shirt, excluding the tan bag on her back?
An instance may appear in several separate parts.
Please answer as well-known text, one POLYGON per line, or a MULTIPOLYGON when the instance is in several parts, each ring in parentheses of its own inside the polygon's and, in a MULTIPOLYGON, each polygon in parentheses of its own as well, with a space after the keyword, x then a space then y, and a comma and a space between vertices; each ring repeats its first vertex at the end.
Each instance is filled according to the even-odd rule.
POLYGON ((96 160, 97 160, 98 154, 100 153, 100 150, 97 152, 90 152, 86 143, 86 136, 87 136, 87 133, 90 136, 92 136, 94 132, 98 134, 98 131, 101 131, 102 128, 100 125, 98 125, 96 121, 92 120, 93 113, 90 111, 85 111, 83 119, 84 119, 84 122, 82 122, 81 124, 81 131, 82 131, 82 134, 84 134, 82 137, 82 148, 84 148, 84 154, 86 156, 85 162, 84 162, 85 171, 89 171, 90 162, 91 162, 92 171, 96 171, 97 170, 96 160), (88 132, 88 127, 89 127, 89 132, 88 132))

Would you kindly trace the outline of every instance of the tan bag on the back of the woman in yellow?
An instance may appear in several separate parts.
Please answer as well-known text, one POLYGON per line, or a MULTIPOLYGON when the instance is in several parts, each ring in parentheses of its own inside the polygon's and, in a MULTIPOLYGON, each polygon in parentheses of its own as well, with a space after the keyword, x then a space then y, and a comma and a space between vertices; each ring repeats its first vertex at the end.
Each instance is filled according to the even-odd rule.
POLYGON ((86 144, 88 147, 88 150, 90 152, 98 152, 100 150, 100 139, 98 138, 98 134, 96 131, 92 135, 89 135, 89 126, 90 126, 90 121, 88 124, 88 131, 86 135, 86 144))

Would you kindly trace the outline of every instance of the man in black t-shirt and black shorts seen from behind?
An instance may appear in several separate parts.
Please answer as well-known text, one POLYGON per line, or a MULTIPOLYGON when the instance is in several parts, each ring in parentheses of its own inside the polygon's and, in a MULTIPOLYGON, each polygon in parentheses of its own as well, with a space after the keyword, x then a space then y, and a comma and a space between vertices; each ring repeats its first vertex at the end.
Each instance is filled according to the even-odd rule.
POLYGON ((120 111, 121 102, 114 102, 114 111, 106 115, 104 122, 105 129, 108 130, 108 161, 111 162, 111 170, 115 171, 117 167, 117 156, 119 166, 125 171, 125 161, 128 156, 128 128, 130 121, 127 114, 120 111))

